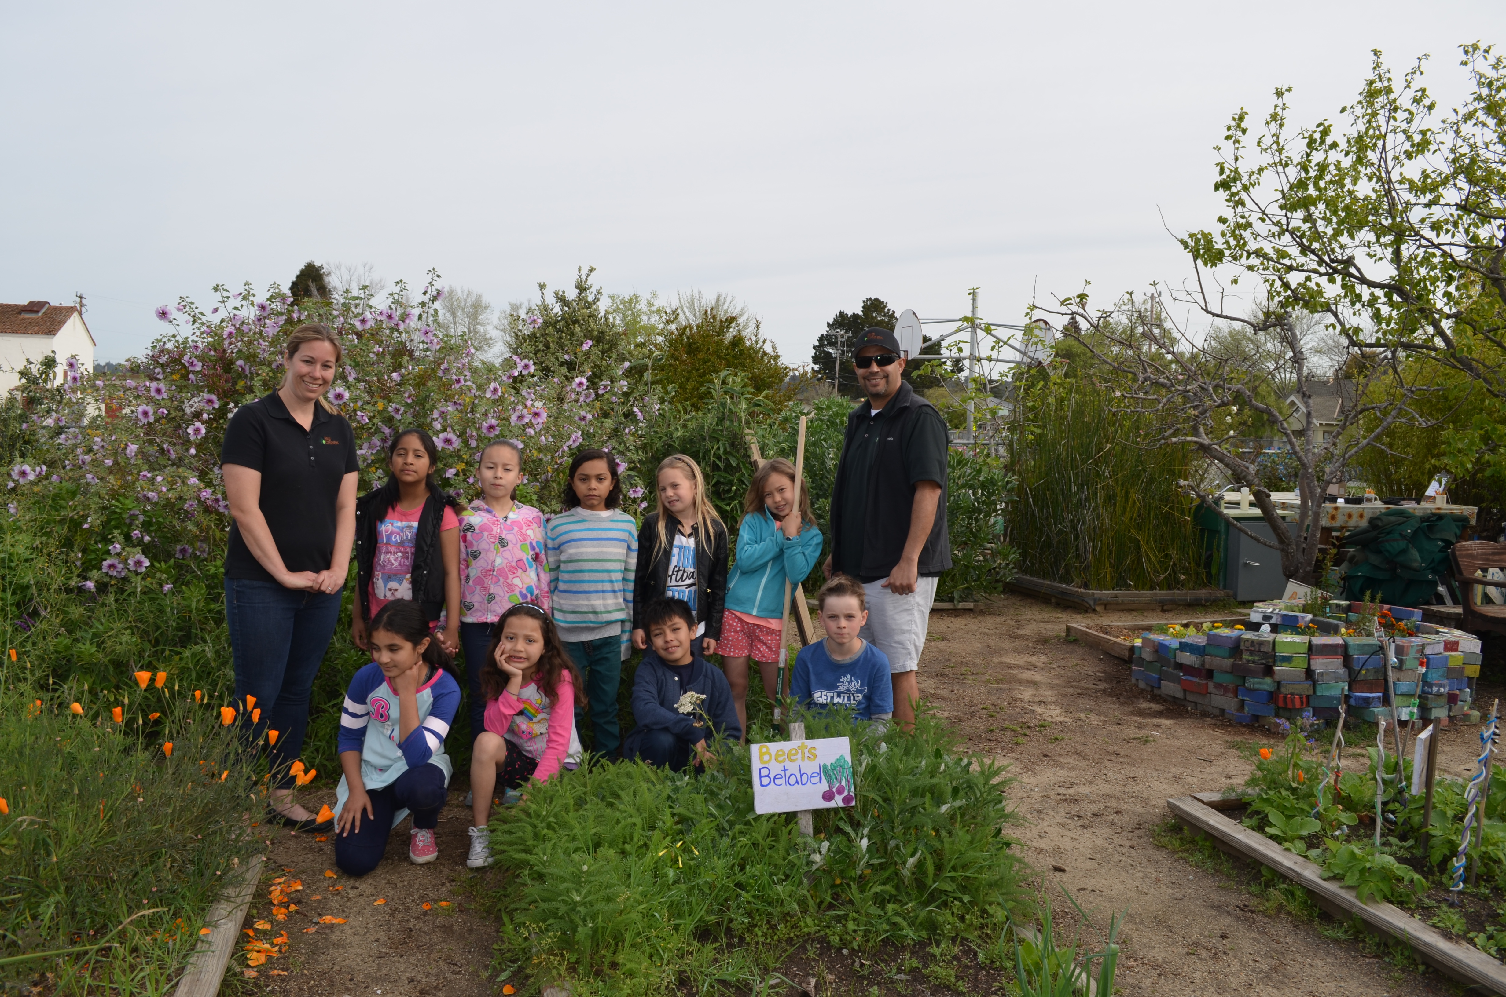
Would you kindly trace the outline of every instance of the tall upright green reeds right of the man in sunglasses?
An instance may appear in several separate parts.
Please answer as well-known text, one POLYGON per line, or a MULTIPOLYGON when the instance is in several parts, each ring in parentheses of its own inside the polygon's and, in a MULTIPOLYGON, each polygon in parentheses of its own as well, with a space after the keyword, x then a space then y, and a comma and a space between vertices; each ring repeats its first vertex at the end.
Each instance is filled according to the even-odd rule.
POLYGON ((1041 373, 1020 387, 1008 462, 1018 497, 1006 539, 1018 571, 1083 589, 1203 589, 1202 539, 1178 482, 1187 446, 1152 446, 1152 416, 1089 381, 1041 373))

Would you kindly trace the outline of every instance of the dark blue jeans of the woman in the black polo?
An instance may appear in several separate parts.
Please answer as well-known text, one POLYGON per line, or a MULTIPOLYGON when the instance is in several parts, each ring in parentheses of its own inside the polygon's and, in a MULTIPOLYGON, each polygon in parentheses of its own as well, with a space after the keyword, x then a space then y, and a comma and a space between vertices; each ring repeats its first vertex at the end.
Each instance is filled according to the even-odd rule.
POLYGON ((230 628, 235 660, 235 699, 256 697, 261 720, 239 711, 241 738, 262 744, 267 730, 277 732, 268 749, 276 788, 294 785, 288 767, 303 755, 309 727, 309 693, 319 663, 340 619, 340 593, 295 592, 276 581, 224 580, 224 617, 230 628))

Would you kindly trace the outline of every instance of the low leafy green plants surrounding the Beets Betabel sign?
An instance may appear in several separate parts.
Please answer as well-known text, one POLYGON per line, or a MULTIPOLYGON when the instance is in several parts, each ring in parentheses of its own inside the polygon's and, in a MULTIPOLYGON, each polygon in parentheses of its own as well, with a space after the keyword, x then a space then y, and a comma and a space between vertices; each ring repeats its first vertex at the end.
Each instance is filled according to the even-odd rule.
POLYGON ((914 735, 863 727, 807 720, 810 738, 852 738, 857 783, 855 806, 815 812, 812 839, 792 813, 753 813, 747 745, 717 745, 700 776, 619 764, 529 791, 492 819, 501 973, 572 994, 706 992, 798 938, 997 938, 1029 913, 1003 768, 956 753, 932 717, 914 735))

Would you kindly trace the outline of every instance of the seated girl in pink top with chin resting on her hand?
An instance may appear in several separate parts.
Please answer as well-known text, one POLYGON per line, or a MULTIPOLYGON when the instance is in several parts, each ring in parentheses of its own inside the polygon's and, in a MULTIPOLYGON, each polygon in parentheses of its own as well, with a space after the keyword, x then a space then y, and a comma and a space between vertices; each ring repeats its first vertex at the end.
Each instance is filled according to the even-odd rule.
POLYGON ((486 821, 498 779, 505 789, 518 789, 580 765, 575 697, 586 706, 584 684, 554 622, 532 602, 514 605, 492 627, 480 685, 486 729, 471 745, 473 825, 465 858, 471 869, 491 864, 486 821))

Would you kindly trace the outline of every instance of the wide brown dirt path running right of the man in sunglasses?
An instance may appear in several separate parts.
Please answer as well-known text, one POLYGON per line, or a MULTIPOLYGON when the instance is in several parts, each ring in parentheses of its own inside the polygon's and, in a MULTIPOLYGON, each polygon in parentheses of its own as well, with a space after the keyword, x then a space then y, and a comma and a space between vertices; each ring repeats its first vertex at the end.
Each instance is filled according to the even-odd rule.
MULTIPOLYGON (((1276 736, 1133 688, 1126 663, 1063 639, 1074 619, 1114 617, 1023 599, 937 613, 922 693, 974 750, 1014 765, 1030 863, 1101 929, 1128 908, 1126 997, 1455 992, 1312 922, 1261 913, 1233 883, 1157 846, 1169 797, 1242 783, 1250 764, 1233 745, 1276 736)), ((1470 771, 1476 730, 1444 733, 1443 771, 1470 771)))

